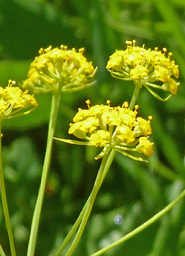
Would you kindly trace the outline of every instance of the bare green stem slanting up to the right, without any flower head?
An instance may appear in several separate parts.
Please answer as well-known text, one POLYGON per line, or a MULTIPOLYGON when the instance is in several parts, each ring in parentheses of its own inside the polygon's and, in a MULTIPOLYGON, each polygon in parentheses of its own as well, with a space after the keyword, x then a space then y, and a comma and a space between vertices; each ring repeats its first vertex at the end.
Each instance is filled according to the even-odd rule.
POLYGON ((135 228, 135 230, 128 233, 128 235, 122 237, 121 239, 117 240, 117 242, 110 244, 108 247, 105 247, 102 250, 98 250, 94 254, 91 254, 91 256, 98 256, 98 255, 104 254, 106 251, 112 249, 113 247, 117 247, 118 245, 120 245, 120 243, 124 243, 126 240, 130 239, 132 236, 135 236, 136 234, 141 232, 143 229, 149 227, 150 224, 153 224, 165 213, 168 213, 168 211, 171 210, 176 205, 176 203, 179 202, 184 196, 185 196, 185 190, 175 200, 173 200, 170 204, 168 204, 168 206, 166 206, 163 210, 161 210, 159 213, 154 215, 154 217, 150 218, 149 221, 146 221, 145 223, 140 225, 138 228, 135 228))

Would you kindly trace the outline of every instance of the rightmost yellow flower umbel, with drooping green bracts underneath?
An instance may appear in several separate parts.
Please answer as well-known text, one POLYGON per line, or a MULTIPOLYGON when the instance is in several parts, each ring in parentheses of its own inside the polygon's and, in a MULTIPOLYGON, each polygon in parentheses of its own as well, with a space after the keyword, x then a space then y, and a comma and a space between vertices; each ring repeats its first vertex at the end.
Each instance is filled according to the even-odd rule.
MULTIPOLYGON (((175 61, 171 61, 172 53, 165 56, 167 50, 163 52, 156 47, 154 50, 135 46, 136 41, 126 41, 126 50, 117 50, 109 57, 106 69, 109 69, 113 77, 121 80, 133 80, 135 85, 144 86, 154 97, 164 100, 157 95, 151 87, 170 91, 175 95, 179 83, 175 78, 179 77, 179 68, 175 61)), ((169 95, 166 99, 168 99, 169 95)))

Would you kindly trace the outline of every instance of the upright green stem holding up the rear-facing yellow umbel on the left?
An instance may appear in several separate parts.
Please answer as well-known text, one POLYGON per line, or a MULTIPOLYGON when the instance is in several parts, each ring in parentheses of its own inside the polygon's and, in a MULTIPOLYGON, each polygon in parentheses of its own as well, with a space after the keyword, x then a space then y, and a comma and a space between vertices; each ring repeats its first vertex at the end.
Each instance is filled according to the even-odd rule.
POLYGON ((31 233, 30 233, 30 239, 28 243, 28 254, 27 254, 28 256, 33 256, 35 253, 35 243, 36 243, 37 233, 39 228, 40 214, 43 206, 44 193, 46 189, 47 174, 50 168, 50 158, 51 158, 51 150, 52 150, 53 137, 54 137, 54 129, 57 121, 57 113, 59 109, 60 99, 61 99, 61 86, 59 86, 57 91, 54 91, 52 95, 50 123, 48 128, 48 136, 47 136, 47 144, 46 144, 46 154, 45 154, 44 163, 43 163, 43 173, 42 173, 41 183, 39 187, 39 195, 37 198, 37 202, 35 205, 35 210, 32 218, 32 223, 31 223, 31 233))

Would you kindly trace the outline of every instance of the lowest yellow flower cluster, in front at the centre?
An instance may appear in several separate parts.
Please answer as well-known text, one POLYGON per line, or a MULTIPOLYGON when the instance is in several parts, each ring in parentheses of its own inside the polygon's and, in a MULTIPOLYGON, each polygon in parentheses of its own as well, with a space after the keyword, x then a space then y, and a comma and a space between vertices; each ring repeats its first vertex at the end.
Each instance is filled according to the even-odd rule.
POLYGON ((117 107, 110 106, 109 103, 107 101, 107 105, 90 106, 90 101, 87 100, 88 109, 78 110, 68 133, 87 139, 95 147, 115 149, 136 160, 143 159, 134 157, 131 152, 150 157, 154 144, 148 139, 151 134, 151 117, 148 120, 137 117, 138 106, 132 111, 128 108, 128 102, 117 107))

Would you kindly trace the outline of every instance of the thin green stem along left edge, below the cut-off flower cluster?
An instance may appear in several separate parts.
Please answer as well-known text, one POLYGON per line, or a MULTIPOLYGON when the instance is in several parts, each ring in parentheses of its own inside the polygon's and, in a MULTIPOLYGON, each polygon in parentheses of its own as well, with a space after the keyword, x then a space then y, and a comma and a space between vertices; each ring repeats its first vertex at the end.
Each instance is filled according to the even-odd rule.
POLYGON ((2 137, 1 137, 1 131, 2 130, 2 121, 0 122, 0 190, 1 190, 1 195, 2 195, 2 208, 6 220, 6 228, 9 236, 9 245, 10 245, 10 250, 12 256, 16 255, 16 250, 15 250, 15 245, 13 241, 13 232, 11 228, 11 223, 9 219, 9 207, 8 207, 8 202, 6 198, 6 186, 5 186, 5 180, 4 180, 4 173, 2 169, 2 137))

